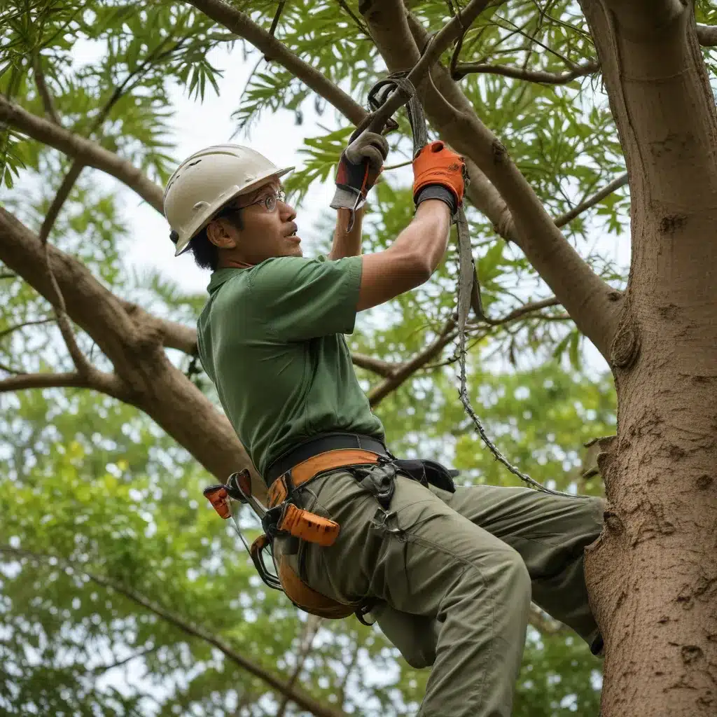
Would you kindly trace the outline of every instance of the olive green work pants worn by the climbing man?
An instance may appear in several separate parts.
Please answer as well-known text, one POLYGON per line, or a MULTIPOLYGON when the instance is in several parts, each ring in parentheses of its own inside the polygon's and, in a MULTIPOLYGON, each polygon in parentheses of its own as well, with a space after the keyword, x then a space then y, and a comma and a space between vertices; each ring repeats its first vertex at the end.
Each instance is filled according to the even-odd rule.
POLYGON ((328 548, 301 543, 290 561, 327 597, 381 601, 371 614, 386 637, 410 665, 432 665, 421 717, 511 714, 531 599, 588 644, 597 635, 583 551, 602 530, 601 500, 490 485, 447 493, 398 476, 386 512, 336 471, 299 502, 341 532, 328 548))

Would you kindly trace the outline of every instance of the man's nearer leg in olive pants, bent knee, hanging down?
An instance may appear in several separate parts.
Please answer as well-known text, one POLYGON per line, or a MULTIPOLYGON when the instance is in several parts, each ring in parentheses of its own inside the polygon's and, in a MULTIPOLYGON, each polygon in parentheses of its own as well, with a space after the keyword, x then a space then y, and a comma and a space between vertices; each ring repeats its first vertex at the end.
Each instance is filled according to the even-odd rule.
POLYGON ((308 490, 316 500, 303 506, 341 526, 333 546, 305 546, 310 587, 343 602, 384 600, 386 632, 399 649, 415 644, 403 629, 435 627, 417 657, 430 659, 435 639, 421 717, 508 717, 531 599, 521 556, 408 478, 396 479, 388 515, 348 473, 308 490), (401 627, 399 613, 416 619, 401 627))

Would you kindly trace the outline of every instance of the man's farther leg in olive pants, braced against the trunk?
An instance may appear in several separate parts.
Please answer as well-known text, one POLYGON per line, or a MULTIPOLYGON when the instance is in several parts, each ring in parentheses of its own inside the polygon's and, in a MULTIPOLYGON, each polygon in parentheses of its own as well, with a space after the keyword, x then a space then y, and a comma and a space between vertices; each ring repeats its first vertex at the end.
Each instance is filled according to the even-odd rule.
POLYGON ((583 554, 602 531, 602 499, 493 485, 436 493, 457 513, 516 549, 531 576, 533 602, 592 645, 598 629, 588 602, 583 554))

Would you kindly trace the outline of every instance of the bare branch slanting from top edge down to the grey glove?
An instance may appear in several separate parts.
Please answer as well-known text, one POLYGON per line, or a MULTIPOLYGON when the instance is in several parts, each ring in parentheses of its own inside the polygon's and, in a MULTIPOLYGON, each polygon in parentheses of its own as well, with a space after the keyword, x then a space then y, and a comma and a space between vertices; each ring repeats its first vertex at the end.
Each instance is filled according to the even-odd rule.
POLYGON ((234 34, 243 37, 259 49, 265 57, 286 67, 295 77, 321 95, 354 124, 359 124, 366 117, 366 110, 354 102, 346 92, 343 92, 340 87, 334 85, 331 80, 328 80, 307 62, 300 60, 280 40, 272 37, 265 29, 252 22, 247 14, 233 8, 223 0, 187 0, 187 2, 215 22, 224 25, 234 34))

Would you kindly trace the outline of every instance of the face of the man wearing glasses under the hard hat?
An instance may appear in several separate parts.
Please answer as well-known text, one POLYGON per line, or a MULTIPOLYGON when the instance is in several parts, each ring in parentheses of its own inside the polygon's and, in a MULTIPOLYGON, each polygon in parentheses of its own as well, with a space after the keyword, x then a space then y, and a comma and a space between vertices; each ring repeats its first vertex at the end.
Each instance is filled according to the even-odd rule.
POLYGON ((222 224, 220 233, 226 234, 225 240, 231 240, 219 246, 250 264, 270 257, 303 256, 294 222, 296 212, 293 206, 278 199, 280 190, 278 179, 271 179, 252 193, 237 197, 232 204, 242 210, 242 229, 227 219, 217 219, 222 224))

